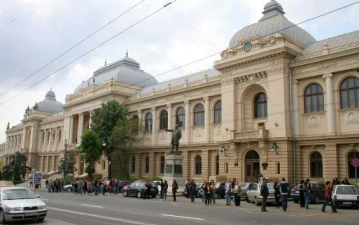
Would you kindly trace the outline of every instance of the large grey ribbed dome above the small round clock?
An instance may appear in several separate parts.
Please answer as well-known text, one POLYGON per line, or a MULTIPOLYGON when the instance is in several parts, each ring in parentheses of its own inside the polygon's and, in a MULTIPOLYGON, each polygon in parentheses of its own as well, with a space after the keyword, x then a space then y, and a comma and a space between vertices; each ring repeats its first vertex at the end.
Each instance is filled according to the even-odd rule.
POLYGON ((229 42, 229 48, 238 45, 242 40, 255 35, 266 36, 272 33, 284 33, 295 41, 309 46, 316 42, 314 37, 302 28, 295 26, 284 17, 285 12, 281 4, 271 1, 264 6, 263 17, 258 23, 251 24, 236 32, 229 42), (286 29, 288 28, 288 29, 286 29))

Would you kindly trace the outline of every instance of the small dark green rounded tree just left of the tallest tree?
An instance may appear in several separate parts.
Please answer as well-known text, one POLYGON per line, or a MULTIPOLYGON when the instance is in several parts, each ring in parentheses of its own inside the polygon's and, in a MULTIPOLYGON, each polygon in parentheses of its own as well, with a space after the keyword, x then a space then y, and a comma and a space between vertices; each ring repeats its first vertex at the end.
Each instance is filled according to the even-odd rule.
POLYGON ((81 153, 84 154, 87 167, 85 172, 89 175, 89 178, 93 178, 94 168, 92 165, 99 160, 102 156, 102 145, 97 134, 93 130, 88 130, 82 136, 81 140, 81 153))

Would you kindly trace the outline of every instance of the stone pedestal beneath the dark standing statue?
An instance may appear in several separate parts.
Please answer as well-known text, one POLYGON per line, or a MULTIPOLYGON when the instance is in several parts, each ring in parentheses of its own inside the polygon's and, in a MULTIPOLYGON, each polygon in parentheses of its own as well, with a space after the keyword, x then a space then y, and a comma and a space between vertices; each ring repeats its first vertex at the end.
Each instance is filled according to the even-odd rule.
POLYGON ((178 186, 184 183, 181 155, 169 154, 165 157, 165 176, 163 179, 167 180, 169 189, 172 186, 173 180, 177 181, 178 186))

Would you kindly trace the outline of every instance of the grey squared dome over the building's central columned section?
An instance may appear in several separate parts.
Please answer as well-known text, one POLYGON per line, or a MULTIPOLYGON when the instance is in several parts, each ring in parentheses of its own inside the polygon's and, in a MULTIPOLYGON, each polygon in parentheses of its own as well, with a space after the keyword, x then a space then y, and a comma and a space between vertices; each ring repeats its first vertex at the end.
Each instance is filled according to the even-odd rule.
POLYGON ((121 60, 107 64, 93 72, 93 77, 83 81, 78 85, 74 93, 77 93, 80 89, 90 86, 92 84, 103 84, 109 81, 111 78, 118 82, 126 84, 133 84, 142 87, 148 87, 158 84, 157 80, 152 77, 151 74, 139 69, 139 63, 134 59, 128 57, 121 60))

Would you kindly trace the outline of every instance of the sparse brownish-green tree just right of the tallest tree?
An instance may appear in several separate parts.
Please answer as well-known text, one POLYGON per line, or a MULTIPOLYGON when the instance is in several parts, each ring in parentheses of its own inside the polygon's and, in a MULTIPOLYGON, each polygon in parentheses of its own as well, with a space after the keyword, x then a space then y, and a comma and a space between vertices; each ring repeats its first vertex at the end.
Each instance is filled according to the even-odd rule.
POLYGON ((118 122, 112 132, 112 144, 114 146, 114 153, 118 156, 121 172, 127 180, 130 179, 128 172, 129 167, 126 163, 127 151, 133 148, 135 143, 141 142, 144 135, 145 128, 138 125, 137 119, 127 119, 118 122))

